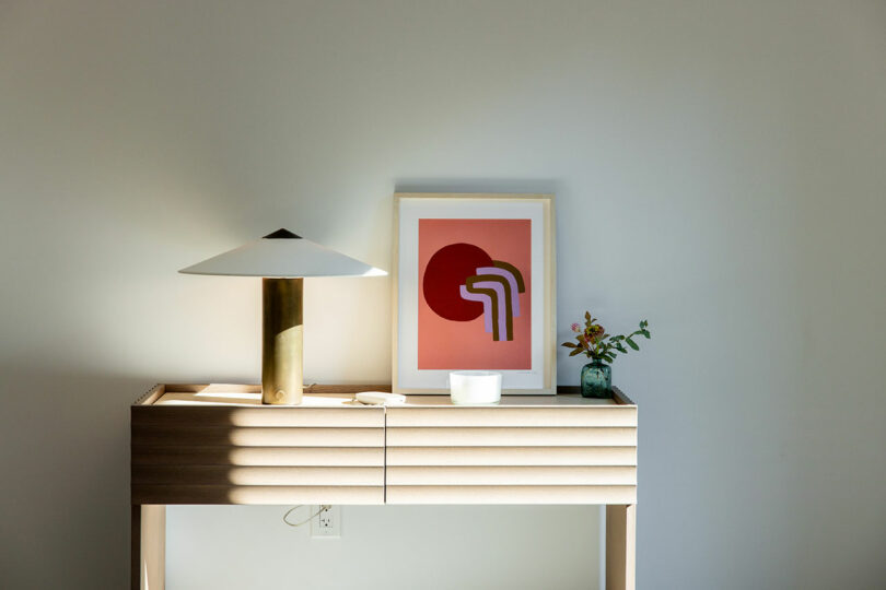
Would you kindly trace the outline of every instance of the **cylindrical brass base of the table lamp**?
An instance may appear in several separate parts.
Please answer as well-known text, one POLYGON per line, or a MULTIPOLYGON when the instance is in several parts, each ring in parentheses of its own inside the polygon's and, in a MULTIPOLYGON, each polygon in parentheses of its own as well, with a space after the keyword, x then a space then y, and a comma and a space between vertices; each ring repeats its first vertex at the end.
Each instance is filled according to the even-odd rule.
POLYGON ((303 283, 261 280, 261 403, 302 403, 303 283))

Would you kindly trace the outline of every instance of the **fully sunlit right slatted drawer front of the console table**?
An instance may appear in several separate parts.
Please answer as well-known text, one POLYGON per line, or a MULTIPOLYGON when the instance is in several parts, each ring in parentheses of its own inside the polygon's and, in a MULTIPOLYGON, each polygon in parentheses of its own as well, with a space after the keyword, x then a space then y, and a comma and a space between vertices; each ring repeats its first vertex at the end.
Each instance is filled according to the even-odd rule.
POLYGON ((630 504, 637 408, 388 408, 388 504, 630 504))

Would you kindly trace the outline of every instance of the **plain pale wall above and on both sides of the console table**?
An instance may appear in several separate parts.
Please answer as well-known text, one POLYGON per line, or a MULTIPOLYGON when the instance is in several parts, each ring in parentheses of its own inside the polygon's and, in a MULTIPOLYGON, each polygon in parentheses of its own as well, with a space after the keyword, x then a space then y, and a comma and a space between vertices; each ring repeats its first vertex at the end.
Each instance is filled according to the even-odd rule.
MULTIPOLYGON (((0 581, 125 587, 128 405, 258 379, 177 269, 389 267, 399 189, 556 192, 561 337, 650 320, 640 588, 879 588, 885 146, 882 2, 0 1, 0 581)), ((387 381, 389 281, 306 293, 307 378, 387 381)))

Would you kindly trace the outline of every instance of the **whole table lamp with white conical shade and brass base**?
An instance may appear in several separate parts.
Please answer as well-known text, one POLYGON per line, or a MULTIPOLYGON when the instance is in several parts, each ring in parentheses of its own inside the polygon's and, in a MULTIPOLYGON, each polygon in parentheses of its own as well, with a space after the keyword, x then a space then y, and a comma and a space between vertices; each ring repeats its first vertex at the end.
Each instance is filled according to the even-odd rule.
POLYGON ((261 276, 261 403, 277 405, 302 402, 303 279, 387 274, 288 229, 178 272, 261 276))

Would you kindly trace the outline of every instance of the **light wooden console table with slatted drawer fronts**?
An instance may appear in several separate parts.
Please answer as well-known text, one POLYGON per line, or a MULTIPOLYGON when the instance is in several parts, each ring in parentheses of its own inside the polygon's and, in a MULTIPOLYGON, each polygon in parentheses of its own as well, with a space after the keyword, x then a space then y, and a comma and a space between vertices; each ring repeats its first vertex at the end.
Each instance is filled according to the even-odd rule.
POLYGON ((637 405, 623 393, 382 408, 352 401, 365 390, 380 386, 314 386, 273 406, 258 386, 159 385, 136 401, 131 588, 164 586, 168 504, 605 504, 606 588, 634 588, 637 405))

